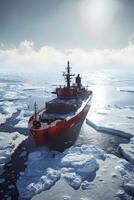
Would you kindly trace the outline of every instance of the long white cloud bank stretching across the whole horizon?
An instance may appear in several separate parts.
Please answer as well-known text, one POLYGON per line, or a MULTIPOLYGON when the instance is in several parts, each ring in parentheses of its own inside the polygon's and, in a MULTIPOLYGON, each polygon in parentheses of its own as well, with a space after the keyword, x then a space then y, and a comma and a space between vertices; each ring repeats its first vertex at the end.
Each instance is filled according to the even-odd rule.
POLYGON ((42 46, 38 50, 34 43, 22 41, 18 47, 6 49, 0 47, 0 69, 19 70, 53 70, 63 69, 66 61, 78 69, 94 70, 101 68, 134 67, 134 44, 121 49, 84 50, 81 48, 57 50, 54 47, 42 46))

